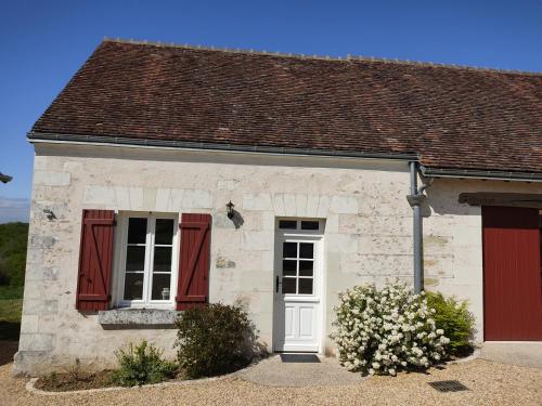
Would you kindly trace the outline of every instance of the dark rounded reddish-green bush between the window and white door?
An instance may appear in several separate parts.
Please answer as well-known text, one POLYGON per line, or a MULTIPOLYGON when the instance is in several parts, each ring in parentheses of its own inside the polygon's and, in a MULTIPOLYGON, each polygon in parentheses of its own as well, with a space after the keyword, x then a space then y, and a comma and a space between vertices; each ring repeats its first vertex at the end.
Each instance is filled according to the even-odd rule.
POLYGON ((256 335, 241 306, 217 303, 185 310, 177 328, 178 362, 189 378, 232 372, 254 357, 256 335))

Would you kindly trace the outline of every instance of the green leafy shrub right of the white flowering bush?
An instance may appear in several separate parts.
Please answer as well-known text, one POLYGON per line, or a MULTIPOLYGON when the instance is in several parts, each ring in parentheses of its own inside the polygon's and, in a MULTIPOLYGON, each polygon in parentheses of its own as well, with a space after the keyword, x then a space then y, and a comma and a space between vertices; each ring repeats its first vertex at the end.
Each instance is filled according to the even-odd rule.
POLYGON ((468 303, 455 298, 444 298, 442 293, 427 292, 427 304, 436 310, 434 318, 437 328, 444 330, 444 336, 450 339, 450 355, 470 353, 475 317, 468 311, 468 303))

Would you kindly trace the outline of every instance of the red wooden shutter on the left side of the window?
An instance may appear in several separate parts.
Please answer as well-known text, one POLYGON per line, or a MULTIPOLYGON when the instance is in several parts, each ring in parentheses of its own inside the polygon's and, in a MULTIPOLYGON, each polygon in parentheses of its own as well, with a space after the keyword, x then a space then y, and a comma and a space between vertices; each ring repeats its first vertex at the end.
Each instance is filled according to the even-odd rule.
POLYGON ((107 310, 113 263, 113 210, 83 210, 76 309, 107 310))

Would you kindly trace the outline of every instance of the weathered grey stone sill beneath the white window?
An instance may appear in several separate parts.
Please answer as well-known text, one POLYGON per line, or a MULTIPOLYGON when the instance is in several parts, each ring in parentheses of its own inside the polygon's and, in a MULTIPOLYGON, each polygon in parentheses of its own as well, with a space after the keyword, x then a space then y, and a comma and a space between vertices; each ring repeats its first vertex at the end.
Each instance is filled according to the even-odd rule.
POLYGON ((98 312, 98 323, 104 330, 169 329, 180 312, 163 309, 113 309, 98 312))

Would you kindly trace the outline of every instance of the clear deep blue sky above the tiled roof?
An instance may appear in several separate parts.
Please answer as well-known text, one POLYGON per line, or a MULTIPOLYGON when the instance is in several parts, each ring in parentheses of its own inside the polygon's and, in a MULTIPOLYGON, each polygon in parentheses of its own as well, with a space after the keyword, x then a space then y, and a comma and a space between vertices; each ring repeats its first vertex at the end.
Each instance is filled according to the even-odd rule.
POLYGON ((4 1, 0 223, 27 218, 26 132, 105 36, 542 70, 541 0, 4 1))

